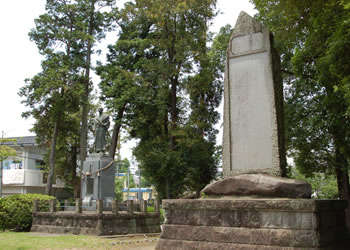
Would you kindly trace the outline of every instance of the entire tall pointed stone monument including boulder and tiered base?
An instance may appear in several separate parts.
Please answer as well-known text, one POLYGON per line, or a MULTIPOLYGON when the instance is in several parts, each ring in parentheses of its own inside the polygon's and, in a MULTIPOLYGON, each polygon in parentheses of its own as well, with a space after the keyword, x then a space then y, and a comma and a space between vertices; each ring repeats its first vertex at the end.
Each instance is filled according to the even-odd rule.
POLYGON ((242 12, 225 73, 224 179, 197 200, 163 200, 156 249, 349 249, 344 200, 312 200, 285 175, 280 62, 269 31, 242 12))

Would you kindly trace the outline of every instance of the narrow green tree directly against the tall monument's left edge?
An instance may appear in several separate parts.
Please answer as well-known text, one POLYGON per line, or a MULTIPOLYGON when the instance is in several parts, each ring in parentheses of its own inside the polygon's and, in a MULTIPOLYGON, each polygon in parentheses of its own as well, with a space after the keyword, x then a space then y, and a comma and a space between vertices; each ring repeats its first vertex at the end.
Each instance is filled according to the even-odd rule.
POLYGON ((191 113, 187 123, 188 146, 182 156, 189 166, 190 190, 195 190, 197 197, 203 184, 208 184, 217 175, 219 148, 215 146, 217 130, 214 125, 220 115, 216 111, 222 97, 222 80, 226 61, 226 49, 232 33, 230 25, 220 29, 212 48, 201 46, 199 73, 188 78, 186 88, 189 93, 191 113))

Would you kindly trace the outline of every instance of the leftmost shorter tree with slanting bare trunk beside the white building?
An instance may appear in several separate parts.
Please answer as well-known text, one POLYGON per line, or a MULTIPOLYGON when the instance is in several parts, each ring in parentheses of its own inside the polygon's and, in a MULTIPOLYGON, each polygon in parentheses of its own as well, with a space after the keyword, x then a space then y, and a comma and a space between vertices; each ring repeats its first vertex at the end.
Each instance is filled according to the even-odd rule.
POLYGON ((77 112, 78 105, 75 105, 79 86, 68 80, 72 72, 69 72, 64 55, 48 54, 47 57, 42 63, 43 72, 28 79, 26 86, 21 88, 20 95, 27 98, 23 102, 31 108, 24 116, 32 115, 36 119, 33 130, 39 135, 39 140, 42 139, 41 143, 50 145, 46 193, 51 194, 57 138, 62 122, 67 120, 66 113, 62 110, 67 113, 77 112))

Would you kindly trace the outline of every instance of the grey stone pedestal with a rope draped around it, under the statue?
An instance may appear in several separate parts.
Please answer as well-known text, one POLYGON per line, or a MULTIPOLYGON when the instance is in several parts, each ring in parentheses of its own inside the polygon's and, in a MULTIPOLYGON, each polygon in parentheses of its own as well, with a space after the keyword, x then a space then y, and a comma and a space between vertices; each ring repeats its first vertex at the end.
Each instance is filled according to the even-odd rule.
MULTIPOLYGON (((114 200, 115 165, 113 159, 103 155, 86 158, 83 164, 83 203, 93 200, 114 200)), ((84 206, 91 204, 83 204, 84 206)))

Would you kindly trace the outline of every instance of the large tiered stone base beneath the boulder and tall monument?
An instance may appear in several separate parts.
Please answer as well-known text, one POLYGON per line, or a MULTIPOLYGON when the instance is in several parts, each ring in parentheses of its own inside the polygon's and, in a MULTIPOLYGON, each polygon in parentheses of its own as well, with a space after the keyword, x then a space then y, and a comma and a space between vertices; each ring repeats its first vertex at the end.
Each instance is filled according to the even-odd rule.
POLYGON ((349 249, 346 201, 163 200, 156 249, 349 249))

